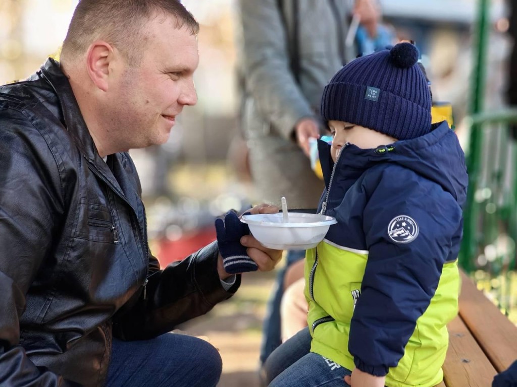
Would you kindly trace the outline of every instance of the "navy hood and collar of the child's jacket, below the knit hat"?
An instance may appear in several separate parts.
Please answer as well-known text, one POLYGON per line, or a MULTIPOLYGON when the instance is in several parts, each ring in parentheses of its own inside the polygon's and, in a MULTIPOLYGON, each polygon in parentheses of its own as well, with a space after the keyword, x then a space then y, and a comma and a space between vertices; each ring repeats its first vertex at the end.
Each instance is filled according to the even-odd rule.
MULTIPOLYGON (((330 157, 330 145, 320 140, 318 150, 325 185, 328 187, 334 164, 330 157)), ((339 180, 355 178, 355 175, 357 179, 364 171, 381 164, 400 165, 442 186, 462 208, 465 204, 468 185, 465 156, 458 137, 446 121, 433 124, 431 132, 424 136, 376 149, 360 149, 354 144, 348 144, 342 150, 337 164, 333 179, 339 180)))

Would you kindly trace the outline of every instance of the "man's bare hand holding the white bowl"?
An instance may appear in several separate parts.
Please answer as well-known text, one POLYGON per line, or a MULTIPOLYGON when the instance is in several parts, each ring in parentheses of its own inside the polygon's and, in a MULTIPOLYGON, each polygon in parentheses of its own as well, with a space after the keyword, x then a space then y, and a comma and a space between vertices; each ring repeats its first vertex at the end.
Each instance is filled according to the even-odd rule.
MULTIPOLYGON (((276 214, 279 208, 275 205, 269 204, 260 204, 251 208, 247 213, 252 215, 254 214, 276 214)), ((240 243, 242 246, 246 247, 246 252, 248 256, 255 261, 258 266, 258 270, 261 271, 270 271, 282 258, 282 250, 272 250, 265 248, 258 240, 256 240, 252 235, 243 236, 240 239, 240 243)), ((219 259, 217 262, 217 272, 219 273, 219 278, 225 280, 230 277, 231 274, 227 273, 224 270, 223 265, 223 257, 219 254, 219 259)))

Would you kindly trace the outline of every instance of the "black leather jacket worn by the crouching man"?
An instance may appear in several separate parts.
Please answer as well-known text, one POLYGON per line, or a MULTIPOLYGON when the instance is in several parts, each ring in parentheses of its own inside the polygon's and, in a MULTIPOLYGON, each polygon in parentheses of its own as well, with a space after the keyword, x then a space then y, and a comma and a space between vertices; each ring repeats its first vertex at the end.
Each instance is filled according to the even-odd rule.
POLYGON ((159 269, 140 192, 127 153, 100 158, 57 62, 0 87, 1 386, 101 386, 112 336, 168 332, 236 291, 215 243, 159 269))

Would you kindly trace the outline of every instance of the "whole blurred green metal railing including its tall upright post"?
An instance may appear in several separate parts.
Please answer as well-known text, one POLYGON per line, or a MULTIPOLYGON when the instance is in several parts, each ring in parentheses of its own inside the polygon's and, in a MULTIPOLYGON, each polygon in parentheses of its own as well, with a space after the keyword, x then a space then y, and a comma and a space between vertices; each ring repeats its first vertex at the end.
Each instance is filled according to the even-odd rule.
POLYGON ((474 273, 478 287, 517 321, 517 108, 484 110, 489 0, 479 0, 474 36, 474 69, 470 85, 469 143, 466 149, 469 186, 464 210, 460 265, 474 273))

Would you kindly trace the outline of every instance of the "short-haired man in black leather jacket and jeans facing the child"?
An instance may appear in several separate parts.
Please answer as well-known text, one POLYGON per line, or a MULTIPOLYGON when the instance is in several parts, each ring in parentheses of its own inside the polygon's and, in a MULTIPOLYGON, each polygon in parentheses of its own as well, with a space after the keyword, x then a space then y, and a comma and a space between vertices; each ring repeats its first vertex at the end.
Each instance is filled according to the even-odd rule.
POLYGON ((240 278, 216 243, 159 269, 127 153, 196 103, 198 29, 177 0, 81 0, 61 62, 0 87, 0 385, 216 385, 217 350, 166 332, 240 278))

